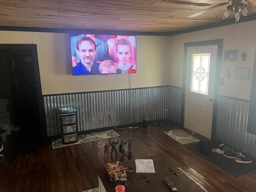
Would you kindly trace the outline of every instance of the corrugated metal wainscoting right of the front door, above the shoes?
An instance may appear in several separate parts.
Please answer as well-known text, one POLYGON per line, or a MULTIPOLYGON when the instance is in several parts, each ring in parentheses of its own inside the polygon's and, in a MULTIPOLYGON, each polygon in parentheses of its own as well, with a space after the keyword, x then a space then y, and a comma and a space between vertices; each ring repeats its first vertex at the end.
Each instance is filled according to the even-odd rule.
POLYGON ((216 140, 256 157, 256 135, 246 132, 249 102, 218 97, 216 140))

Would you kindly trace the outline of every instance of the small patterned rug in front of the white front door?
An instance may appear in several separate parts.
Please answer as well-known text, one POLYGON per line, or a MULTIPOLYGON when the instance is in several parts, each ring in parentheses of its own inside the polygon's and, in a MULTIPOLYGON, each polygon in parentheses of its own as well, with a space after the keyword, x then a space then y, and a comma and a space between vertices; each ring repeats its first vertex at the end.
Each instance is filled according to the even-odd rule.
POLYGON ((187 132, 185 132, 184 130, 181 130, 181 129, 166 131, 164 133, 167 134, 168 136, 170 136, 171 138, 175 139, 182 145, 199 141, 198 138, 188 134, 187 132))

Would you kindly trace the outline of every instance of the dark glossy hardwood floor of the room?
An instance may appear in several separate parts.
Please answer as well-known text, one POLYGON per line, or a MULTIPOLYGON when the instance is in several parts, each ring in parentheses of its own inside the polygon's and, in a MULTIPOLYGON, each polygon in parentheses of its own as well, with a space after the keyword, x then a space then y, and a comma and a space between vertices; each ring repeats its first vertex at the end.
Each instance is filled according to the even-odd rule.
MULTIPOLYGON (((234 177, 204 160, 164 134, 179 128, 171 122, 166 126, 139 127, 132 132, 116 130, 119 140, 132 138, 134 159, 152 154, 164 154, 177 167, 199 182, 208 192, 256 191, 256 171, 234 177)), ((194 136, 202 139, 202 137, 194 136)), ((116 138, 111 139, 116 140, 116 138)), ((1 192, 82 192, 98 187, 96 168, 121 158, 104 158, 103 146, 109 140, 99 140, 52 148, 50 140, 41 141, 8 136, 0 158, 1 192)), ((125 146, 127 153, 128 146, 125 146)))

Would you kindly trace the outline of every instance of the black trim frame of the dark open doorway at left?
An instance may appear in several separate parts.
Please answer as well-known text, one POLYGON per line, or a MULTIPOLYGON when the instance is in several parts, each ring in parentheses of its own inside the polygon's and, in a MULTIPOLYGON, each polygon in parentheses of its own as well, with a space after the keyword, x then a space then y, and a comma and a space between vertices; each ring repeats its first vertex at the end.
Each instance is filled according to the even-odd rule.
POLYGON ((0 49, 9 50, 9 49, 31 49, 33 54, 33 62, 34 62, 34 72, 36 75, 36 91, 38 97, 38 106, 40 113, 40 132, 42 136, 46 138, 46 117, 44 113, 44 104, 43 104, 43 95, 41 88, 41 80, 40 80, 40 71, 39 71, 39 63, 38 63, 38 54, 37 54, 37 46, 36 44, 0 44, 0 49))

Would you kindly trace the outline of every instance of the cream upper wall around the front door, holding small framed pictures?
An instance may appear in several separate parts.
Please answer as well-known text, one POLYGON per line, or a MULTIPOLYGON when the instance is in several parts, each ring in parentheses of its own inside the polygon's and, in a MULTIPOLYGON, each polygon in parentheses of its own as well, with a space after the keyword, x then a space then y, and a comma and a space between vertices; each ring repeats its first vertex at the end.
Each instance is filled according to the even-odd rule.
POLYGON ((232 24, 218 28, 170 36, 169 84, 172 86, 182 87, 184 43, 223 39, 220 78, 224 78, 224 85, 219 86, 219 94, 250 100, 252 73, 256 51, 256 20, 237 23, 235 43, 233 42, 234 30, 235 25, 232 24), (238 50, 237 61, 224 61, 224 51, 234 49, 238 50), (244 51, 248 56, 243 62, 241 55, 244 51), (250 68, 249 80, 236 79, 236 68, 250 68), (231 73, 230 78, 227 78, 226 76, 228 69, 230 69, 231 73))

